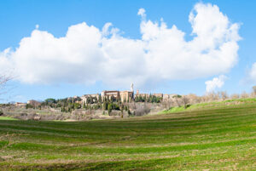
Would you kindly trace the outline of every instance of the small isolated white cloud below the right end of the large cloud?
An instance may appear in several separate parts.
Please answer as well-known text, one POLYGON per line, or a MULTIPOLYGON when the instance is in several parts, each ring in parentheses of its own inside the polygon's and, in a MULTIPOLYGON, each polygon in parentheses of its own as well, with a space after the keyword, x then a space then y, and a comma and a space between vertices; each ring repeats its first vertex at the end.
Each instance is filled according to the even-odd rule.
POLYGON ((214 77, 212 80, 206 82, 207 93, 213 92, 216 88, 222 88, 224 86, 224 81, 227 79, 224 75, 219 77, 214 77))

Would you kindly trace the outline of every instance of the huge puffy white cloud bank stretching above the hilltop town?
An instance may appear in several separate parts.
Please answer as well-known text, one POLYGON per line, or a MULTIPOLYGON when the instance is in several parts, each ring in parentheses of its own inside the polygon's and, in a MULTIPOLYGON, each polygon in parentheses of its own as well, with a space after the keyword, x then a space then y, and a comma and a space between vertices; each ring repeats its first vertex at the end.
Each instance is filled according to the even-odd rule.
POLYGON ((15 68, 23 83, 96 83, 120 87, 148 81, 194 79, 223 74, 236 65, 239 25, 210 3, 197 3, 189 14, 193 39, 164 20, 142 17, 142 37, 122 37, 107 23, 70 26, 64 37, 37 28, 18 48, 0 54, 0 66, 15 68))

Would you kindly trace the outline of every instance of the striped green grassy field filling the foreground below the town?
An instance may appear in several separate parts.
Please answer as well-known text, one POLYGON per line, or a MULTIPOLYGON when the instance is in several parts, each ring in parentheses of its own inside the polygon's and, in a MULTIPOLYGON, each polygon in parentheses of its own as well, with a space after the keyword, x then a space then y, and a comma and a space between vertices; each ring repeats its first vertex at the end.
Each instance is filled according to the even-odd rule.
POLYGON ((0 120, 5 170, 256 170, 256 105, 90 122, 0 120))

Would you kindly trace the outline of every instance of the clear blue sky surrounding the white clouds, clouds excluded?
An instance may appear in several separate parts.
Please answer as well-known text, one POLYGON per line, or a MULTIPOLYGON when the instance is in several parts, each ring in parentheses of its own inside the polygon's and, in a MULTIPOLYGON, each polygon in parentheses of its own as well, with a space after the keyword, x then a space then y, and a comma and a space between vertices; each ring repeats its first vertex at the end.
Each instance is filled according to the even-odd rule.
MULTIPOLYGON (((157 81, 149 79, 146 83, 141 83, 138 88, 142 92, 201 95, 206 93, 205 82, 212 80, 213 77, 224 75, 226 76, 224 84, 221 88, 216 88, 216 91, 227 90, 229 94, 250 92, 253 86, 252 79, 249 82, 243 80, 247 78, 247 72, 251 71, 253 63, 256 62, 254 53, 256 3, 254 1, 1 1, 0 52, 6 48, 12 48, 15 51, 15 48, 19 48, 23 37, 31 37, 36 25, 39 26, 40 31, 47 31, 54 37, 65 37, 68 27, 82 22, 99 29, 111 22, 113 27, 121 31, 122 37, 140 39, 142 20, 137 12, 141 8, 146 10, 148 20, 160 22, 163 18, 168 27, 175 25, 178 30, 185 32, 184 38, 189 41, 193 39, 189 13, 196 3, 215 4, 220 12, 227 15, 231 23, 240 25, 238 33, 241 40, 237 42, 239 50, 236 65, 228 68, 228 71, 212 72, 206 77, 166 78, 157 81)), ((96 80, 95 83, 66 82, 65 77, 60 80, 59 83, 28 83, 24 80, 15 80, 10 83, 14 88, 9 94, 3 95, 3 99, 5 101, 44 100, 49 97, 58 99, 99 93, 103 89, 130 88, 130 83, 115 86, 101 79, 96 80)))

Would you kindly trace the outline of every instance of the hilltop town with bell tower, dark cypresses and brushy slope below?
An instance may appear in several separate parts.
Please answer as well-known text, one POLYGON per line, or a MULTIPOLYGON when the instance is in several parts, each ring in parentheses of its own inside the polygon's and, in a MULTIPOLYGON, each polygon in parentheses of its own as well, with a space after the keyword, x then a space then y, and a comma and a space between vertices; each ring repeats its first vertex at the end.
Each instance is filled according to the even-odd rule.
POLYGON ((130 90, 125 91, 103 90, 98 94, 76 95, 59 100, 51 98, 44 101, 28 100, 26 103, 16 102, 14 105, 2 105, 2 108, 5 114, 15 115, 19 119, 24 117, 24 119, 39 118, 40 120, 70 118, 87 120, 157 113, 170 108, 171 105, 166 104, 173 102, 175 97, 181 96, 160 93, 142 94, 138 89, 135 93, 133 83, 131 83, 130 90))

